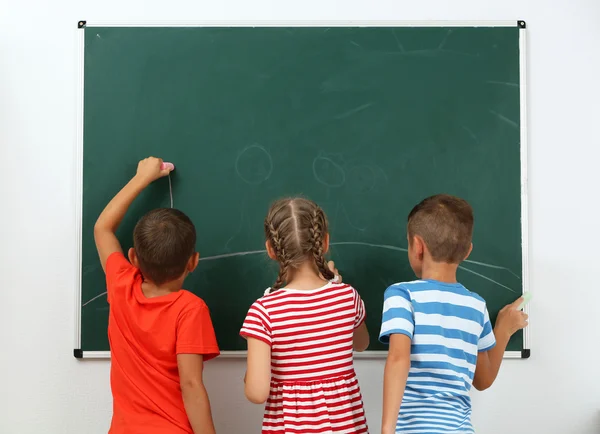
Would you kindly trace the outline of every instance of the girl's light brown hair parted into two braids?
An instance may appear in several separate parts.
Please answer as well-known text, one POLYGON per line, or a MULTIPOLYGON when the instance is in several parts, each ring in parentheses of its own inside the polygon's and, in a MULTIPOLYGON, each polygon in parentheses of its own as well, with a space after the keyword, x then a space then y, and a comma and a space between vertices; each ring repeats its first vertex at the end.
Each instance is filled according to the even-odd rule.
POLYGON ((279 275, 273 290, 289 281, 290 269, 298 268, 307 260, 315 262, 325 279, 335 277, 323 252, 326 234, 327 218, 316 203, 303 198, 287 198, 271 205, 265 218, 265 236, 279 262, 279 275))

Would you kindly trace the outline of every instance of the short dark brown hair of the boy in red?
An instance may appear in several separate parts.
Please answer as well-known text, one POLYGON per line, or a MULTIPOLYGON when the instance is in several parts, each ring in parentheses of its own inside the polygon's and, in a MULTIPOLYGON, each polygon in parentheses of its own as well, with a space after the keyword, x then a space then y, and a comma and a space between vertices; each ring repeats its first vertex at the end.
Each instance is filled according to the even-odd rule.
POLYGON ((179 210, 150 211, 133 230, 133 247, 144 278, 161 285, 179 278, 196 248, 196 228, 179 210))

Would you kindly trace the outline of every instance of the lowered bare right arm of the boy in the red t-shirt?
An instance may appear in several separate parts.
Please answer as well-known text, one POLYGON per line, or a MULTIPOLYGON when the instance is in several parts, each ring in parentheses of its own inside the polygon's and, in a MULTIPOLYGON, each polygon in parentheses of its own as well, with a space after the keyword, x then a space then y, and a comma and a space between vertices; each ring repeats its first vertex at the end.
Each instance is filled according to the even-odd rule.
POLYGON ((177 354, 183 405, 194 434, 214 434, 210 401, 202 381, 203 363, 200 354, 177 354))

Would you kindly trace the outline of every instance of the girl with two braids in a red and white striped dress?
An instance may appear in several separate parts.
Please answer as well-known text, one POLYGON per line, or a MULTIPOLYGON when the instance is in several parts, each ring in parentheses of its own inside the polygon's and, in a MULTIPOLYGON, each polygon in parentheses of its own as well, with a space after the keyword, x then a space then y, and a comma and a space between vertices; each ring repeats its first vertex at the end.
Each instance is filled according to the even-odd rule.
POLYGON ((369 344, 365 307, 336 283, 327 219, 302 198, 275 202, 265 219, 267 253, 279 275, 251 307, 246 397, 266 402, 262 433, 368 433, 352 352, 369 344))

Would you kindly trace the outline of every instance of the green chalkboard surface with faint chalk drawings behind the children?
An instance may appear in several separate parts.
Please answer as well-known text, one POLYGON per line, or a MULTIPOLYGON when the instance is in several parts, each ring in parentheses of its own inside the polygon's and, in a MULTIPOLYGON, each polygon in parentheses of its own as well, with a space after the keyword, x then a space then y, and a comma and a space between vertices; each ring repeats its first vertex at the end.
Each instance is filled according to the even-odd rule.
MULTIPOLYGON (((271 201, 326 211, 331 258, 367 305, 372 350, 385 288, 414 278, 406 217, 434 193, 466 198, 476 226, 460 280, 492 316, 522 292, 519 29, 108 28, 85 32, 80 349, 106 351, 108 304, 93 225, 139 159, 175 163, 174 205, 203 260, 186 281, 223 350, 276 267, 261 252, 271 201)), ((169 206, 168 180, 119 237, 169 206)), ((523 336, 509 350, 520 351, 523 336)))

